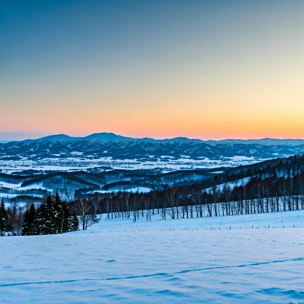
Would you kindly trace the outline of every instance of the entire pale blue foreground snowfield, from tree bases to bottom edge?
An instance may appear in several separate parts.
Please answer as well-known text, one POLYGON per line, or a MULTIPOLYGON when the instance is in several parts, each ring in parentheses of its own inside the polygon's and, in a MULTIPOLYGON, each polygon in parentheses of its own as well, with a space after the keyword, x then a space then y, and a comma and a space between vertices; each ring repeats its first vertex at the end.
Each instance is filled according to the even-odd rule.
POLYGON ((2 237, 0 302, 304 303, 303 220, 302 210, 155 215, 101 219, 86 233, 2 237))

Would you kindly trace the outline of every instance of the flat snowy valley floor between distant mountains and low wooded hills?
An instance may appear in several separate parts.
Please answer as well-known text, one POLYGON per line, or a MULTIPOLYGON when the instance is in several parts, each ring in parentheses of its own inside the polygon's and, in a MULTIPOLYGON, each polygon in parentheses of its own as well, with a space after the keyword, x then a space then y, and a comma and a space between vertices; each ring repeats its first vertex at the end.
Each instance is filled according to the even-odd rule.
MULTIPOLYGON (((219 159, 209 159, 208 157, 200 157, 202 159, 192 159, 182 155, 181 158, 173 159, 172 156, 161 156, 159 158, 148 155, 148 159, 112 159, 112 157, 94 158, 94 155, 88 155, 91 158, 79 158, 81 156, 71 152, 71 156, 67 158, 42 158, 31 159, 31 157, 22 157, 20 160, 0 159, 0 170, 3 173, 12 173, 14 171, 36 169, 36 170, 57 170, 57 171, 75 171, 87 170, 96 166, 111 166, 113 169, 157 169, 159 171, 174 171, 184 169, 199 168, 217 168, 217 167, 236 167, 240 164, 253 164, 265 161, 266 158, 260 157, 220 157, 219 159), (162 161, 162 160, 167 161, 162 161)), ((54 154, 53 154, 54 155, 54 154)), ((101 170, 103 171, 103 170, 101 170)))

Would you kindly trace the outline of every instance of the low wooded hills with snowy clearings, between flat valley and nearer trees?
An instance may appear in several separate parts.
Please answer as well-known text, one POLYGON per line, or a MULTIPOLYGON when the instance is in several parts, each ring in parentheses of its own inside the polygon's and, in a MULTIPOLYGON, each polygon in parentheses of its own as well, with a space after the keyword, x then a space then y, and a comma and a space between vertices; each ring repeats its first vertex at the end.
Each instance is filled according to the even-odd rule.
POLYGON ((171 187, 192 185, 215 175, 213 172, 219 170, 221 168, 178 170, 167 173, 148 169, 114 169, 97 173, 40 170, 16 171, 12 174, 0 172, 0 195, 2 194, 8 202, 25 205, 33 197, 37 202, 42 202, 48 191, 58 191, 64 200, 72 201, 81 194, 95 191, 126 191, 142 187, 158 189, 164 184, 171 187), (9 185, 1 186, 1 182, 9 185))

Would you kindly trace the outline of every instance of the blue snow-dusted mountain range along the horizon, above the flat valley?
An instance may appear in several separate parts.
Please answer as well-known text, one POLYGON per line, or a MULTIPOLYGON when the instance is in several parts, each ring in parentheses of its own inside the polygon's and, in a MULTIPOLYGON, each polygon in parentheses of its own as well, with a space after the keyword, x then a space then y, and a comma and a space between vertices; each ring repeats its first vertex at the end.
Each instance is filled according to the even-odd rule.
POLYGON ((185 137, 155 140, 152 138, 131 138, 114 133, 95 133, 85 137, 71 137, 64 134, 39 139, 28 139, 0 143, 0 159, 7 157, 78 157, 112 159, 159 158, 179 159, 181 157, 217 159, 219 157, 287 157, 304 152, 302 139, 226 139, 200 140, 185 137))

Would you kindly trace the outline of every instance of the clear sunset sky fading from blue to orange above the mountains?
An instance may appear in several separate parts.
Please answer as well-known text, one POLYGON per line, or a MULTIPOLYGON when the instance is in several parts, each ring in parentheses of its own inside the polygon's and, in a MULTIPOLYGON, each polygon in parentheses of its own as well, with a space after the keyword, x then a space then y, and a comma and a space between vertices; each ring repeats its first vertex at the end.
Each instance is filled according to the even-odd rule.
POLYGON ((304 138, 304 1, 0 0, 0 140, 304 138))

